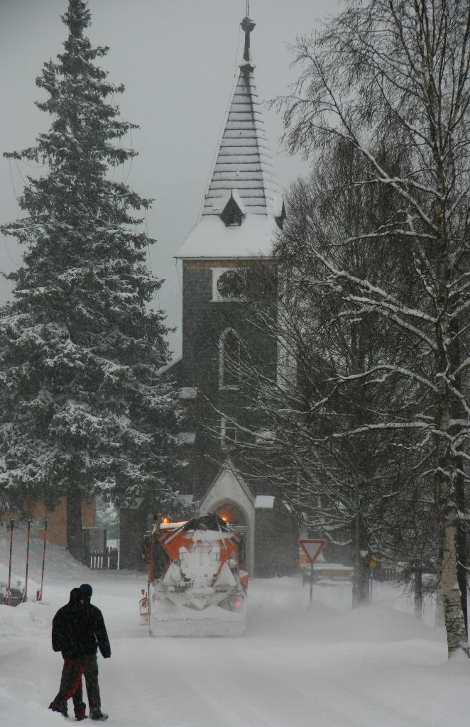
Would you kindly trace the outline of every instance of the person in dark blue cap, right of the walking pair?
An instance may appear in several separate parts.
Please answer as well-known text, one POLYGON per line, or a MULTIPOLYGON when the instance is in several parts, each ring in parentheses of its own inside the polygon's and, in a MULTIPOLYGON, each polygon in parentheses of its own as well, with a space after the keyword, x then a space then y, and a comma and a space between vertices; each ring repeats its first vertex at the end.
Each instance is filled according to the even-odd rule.
POLYGON ((103 614, 99 608, 90 603, 92 593, 93 589, 89 583, 82 583, 79 587, 79 598, 83 603, 87 623, 87 663, 84 667, 84 678, 87 685, 89 716, 92 720, 104 721, 108 719, 108 715, 101 711, 97 650, 100 649, 103 659, 109 659, 111 646, 109 645, 103 614))

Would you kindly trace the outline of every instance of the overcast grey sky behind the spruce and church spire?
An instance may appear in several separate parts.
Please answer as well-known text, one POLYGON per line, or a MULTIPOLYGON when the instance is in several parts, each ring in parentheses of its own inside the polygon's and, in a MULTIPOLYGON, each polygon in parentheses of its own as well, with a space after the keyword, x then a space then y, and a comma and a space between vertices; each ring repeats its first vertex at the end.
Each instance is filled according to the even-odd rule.
MULTIPOLYGON (((66 28, 60 15, 67 0, 0 0, 0 152, 34 144, 50 117, 34 101, 41 98, 35 79, 45 60, 62 50, 66 28)), ((238 63, 242 54, 239 23, 245 0, 91 0, 89 39, 110 47, 98 62, 113 83, 126 90, 117 99, 122 119, 139 124, 128 144, 139 156, 116 172, 138 193, 155 199, 147 213, 154 274, 165 278, 156 308, 178 326, 170 337, 180 353, 180 270, 174 260, 195 224, 212 171, 238 63)), ((338 12, 337 0, 250 0, 255 81, 261 100, 286 92, 295 80, 286 44, 310 33, 319 18, 338 12)), ((264 120, 280 185, 306 171, 299 158, 279 146, 282 121, 264 109, 264 120)), ((16 196, 30 170, 0 156, 0 222, 20 214, 16 196)), ((21 262, 15 239, 0 236, 0 270, 21 262)), ((11 286, 0 280, 0 302, 11 286)))

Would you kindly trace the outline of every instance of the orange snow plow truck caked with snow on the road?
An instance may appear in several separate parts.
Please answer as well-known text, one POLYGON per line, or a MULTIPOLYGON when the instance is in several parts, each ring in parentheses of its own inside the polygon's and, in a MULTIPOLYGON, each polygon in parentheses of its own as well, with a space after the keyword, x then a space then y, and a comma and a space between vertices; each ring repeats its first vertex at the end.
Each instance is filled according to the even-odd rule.
POLYGON ((247 621, 241 536, 218 515, 158 523, 150 536, 140 623, 155 636, 238 636, 247 621))

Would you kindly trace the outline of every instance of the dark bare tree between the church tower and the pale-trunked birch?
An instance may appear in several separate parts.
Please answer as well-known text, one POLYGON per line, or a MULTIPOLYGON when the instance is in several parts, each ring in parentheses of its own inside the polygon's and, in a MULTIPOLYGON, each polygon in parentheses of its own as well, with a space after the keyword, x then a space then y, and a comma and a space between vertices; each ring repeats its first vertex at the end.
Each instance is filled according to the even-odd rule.
POLYGON ((303 527, 327 538, 330 552, 348 558, 352 550, 353 606, 368 601, 371 553, 393 556, 383 513, 390 521, 392 507, 414 486, 410 442, 378 427, 359 431, 386 412, 401 416, 407 409, 411 392, 394 386, 391 376, 381 382, 381 367, 404 368, 414 350, 375 311, 351 308, 316 257, 329 254, 340 269, 374 274, 412 300, 406 250, 400 260, 389 260, 383 242, 345 243, 348 233, 359 236, 380 225, 392 209, 385 190, 355 183, 359 167, 364 171, 362 157, 338 141, 316 161, 309 179, 298 180, 287 193, 289 214, 274 249, 279 278, 274 315, 259 300, 265 284, 255 284, 250 296, 252 325, 278 342, 277 377, 254 366, 248 352, 242 356, 244 399, 252 420, 268 435, 241 434, 236 448, 240 466, 275 482, 303 527), (371 371, 378 375, 368 375, 371 371))

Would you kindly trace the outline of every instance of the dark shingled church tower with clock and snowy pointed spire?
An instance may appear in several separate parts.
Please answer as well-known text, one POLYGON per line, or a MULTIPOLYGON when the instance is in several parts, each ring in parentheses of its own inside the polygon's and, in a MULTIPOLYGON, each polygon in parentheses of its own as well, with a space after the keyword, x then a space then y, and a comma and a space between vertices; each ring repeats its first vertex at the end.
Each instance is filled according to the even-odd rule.
MULTIPOLYGON (((236 465, 236 425, 250 425, 240 377, 244 357, 275 376, 277 347, 254 324, 245 291, 260 270, 264 280, 275 280, 271 251, 285 213, 255 87, 250 52, 255 23, 244 17, 241 25, 239 79, 202 214, 177 255, 183 264, 178 379, 188 428, 194 430, 182 438, 189 464, 181 491, 191 491, 200 514, 218 512, 245 533, 246 566, 253 572, 255 531, 263 520, 257 510, 272 510, 275 498, 266 486, 258 491, 256 482, 246 481, 236 465)), ((259 293, 263 305, 264 286, 259 293)))

